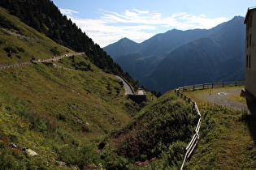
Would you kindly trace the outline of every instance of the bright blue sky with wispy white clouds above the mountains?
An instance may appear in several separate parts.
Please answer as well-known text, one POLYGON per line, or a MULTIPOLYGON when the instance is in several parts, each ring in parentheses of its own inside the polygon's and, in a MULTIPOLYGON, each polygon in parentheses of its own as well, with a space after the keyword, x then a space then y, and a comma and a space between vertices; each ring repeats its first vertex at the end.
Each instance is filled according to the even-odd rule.
POLYGON ((253 0, 52 0, 102 48, 127 37, 137 43, 171 29, 210 29, 246 15, 253 0))

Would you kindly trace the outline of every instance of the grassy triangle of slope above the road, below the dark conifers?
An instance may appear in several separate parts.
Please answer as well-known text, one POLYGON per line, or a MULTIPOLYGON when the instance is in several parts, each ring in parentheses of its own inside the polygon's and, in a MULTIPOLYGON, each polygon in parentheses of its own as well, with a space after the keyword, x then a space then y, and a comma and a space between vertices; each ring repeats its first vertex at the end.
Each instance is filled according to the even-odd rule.
POLYGON ((2 7, 0 7, 0 15, 15 26, 15 29, 11 30, 12 32, 37 39, 26 40, 17 38, 0 29, 0 66, 16 62, 27 62, 31 60, 32 57, 36 57, 36 59, 53 57, 55 54, 51 52, 50 49, 56 49, 61 54, 72 53, 71 49, 57 45, 53 40, 50 40, 48 37, 21 22, 17 17, 9 15, 2 7), (4 49, 10 47, 15 49, 16 53, 13 53, 12 57, 7 57, 7 52, 4 49), (24 50, 19 51, 19 48, 24 50))

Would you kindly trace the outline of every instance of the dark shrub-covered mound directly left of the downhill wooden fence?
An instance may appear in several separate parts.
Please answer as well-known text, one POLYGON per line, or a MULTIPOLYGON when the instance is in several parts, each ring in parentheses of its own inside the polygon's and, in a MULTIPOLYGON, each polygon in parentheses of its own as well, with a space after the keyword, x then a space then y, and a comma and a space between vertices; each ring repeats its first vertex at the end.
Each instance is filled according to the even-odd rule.
POLYGON ((104 166, 180 168, 197 121, 193 104, 169 92, 100 144, 104 166))

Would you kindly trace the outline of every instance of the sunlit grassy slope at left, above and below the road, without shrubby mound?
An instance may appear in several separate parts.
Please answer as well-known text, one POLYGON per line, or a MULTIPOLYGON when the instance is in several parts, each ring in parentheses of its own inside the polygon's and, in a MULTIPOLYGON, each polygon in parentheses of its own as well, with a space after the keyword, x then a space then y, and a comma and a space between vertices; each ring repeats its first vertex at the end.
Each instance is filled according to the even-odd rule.
MULTIPOLYGON (((20 39, 0 29, 0 64, 26 62, 31 57, 50 58, 55 55, 50 49, 61 54, 72 52, 2 8, 0 15, 9 19, 20 34, 40 39, 20 39), (7 47, 17 52, 7 57, 7 47)), ((101 72, 86 56, 72 60, 63 58, 56 64, 74 68, 75 62, 85 62, 90 70, 101 72)), ((111 74, 76 72, 36 63, 0 70, 0 77, 2 168, 58 168, 56 160, 79 168, 96 164, 95 145, 99 138, 126 125, 140 109, 124 96, 123 85, 111 74), (9 142, 18 144, 18 149, 7 147, 9 142), (29 147, 38 156, 29 157, 20 147, 29 147)))

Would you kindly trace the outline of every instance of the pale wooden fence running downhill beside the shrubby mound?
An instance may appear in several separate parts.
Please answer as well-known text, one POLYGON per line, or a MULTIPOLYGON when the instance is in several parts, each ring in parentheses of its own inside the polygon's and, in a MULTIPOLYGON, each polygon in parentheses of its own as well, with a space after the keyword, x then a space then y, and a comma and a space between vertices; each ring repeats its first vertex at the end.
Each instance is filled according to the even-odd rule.
POLYGON ((199 116, 199 119, 197 121, 197 127, 195 129, 195 134, 193 135, 193 138, 189 142, 188 147, 186 147, 186 153, 184 155, 184 160, 183 160, 183 163, 182 163, 181 168, 180 168, 180 170, 182 170, 184 168, 184 164, 186 163, 187 159, 189 159, 190 155, 193 153, 193 150, 197 146, 197 142, 199 140, 199 131, 200 131, 200 128, 201 128, 202 118, 201 118, 201 113, 199 111, 199 108, 197 107, 197 103, 194 102, 193 100, 191 100, 189 97, 185 96, 182 92, 180 92, 180 89, 182 89, 182 87, 177 88, 175 90, 177 96, 180 96, 184 100, 187 100, 189 103, 192 102, 193 105, 194 105, 194 108, 197 111, 197 115, 199 116))

